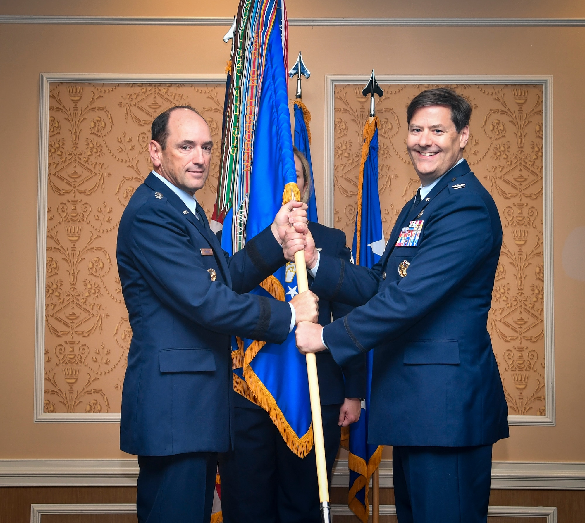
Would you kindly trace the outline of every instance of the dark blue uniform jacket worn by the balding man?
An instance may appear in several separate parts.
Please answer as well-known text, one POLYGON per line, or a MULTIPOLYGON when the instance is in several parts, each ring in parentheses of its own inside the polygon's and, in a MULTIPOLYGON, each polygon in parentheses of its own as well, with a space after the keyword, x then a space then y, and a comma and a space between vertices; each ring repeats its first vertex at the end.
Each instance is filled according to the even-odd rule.
POLYGON ((242 294, 285 263, 283 250, 267 228, 228 257, 205 215, 197 219, 150 174, 122 214, 117 258, 132 326, 120 448, 143 456, 228 450, 230 336, 286 339, 290 306, 242 294))

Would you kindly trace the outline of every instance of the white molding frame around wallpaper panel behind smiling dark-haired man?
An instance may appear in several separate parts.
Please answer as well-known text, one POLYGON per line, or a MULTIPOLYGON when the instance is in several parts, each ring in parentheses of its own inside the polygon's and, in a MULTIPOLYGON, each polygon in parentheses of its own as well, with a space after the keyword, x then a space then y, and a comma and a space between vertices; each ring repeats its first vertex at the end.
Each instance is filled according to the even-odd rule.
MULTIPOLYGON (((333 227, 333 125, 335 122, 335 86, 366 85, 369 74, 325 75, 325 140, 324 140, 324 225, 333 227)), ((510 425, 555 425, 555 321, 553 285, 553 94, 552 75, 391 75, 377 74, 379 84, 515 84, 542 85, 543 90, 543 254, 545 308, 545 416, 509 415, 510 425)))

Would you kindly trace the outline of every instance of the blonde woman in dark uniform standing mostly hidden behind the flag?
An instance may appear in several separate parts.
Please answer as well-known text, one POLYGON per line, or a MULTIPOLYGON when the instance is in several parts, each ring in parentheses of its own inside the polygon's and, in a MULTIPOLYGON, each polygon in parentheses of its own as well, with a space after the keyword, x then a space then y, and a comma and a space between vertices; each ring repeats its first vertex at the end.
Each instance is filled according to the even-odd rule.
MULTIPOLYGON (((309 164, 294 147, 297 185, 307 203, 313 190, 309 164)), ((309 222, 316 247, 353 262, 345 233, 309 222)), ((310 278, 310 276, 309 276, 310 278)), ((352 307, 319 302, 319 324, 345 316, 352 307)), ((325 439, 327 473, 339 449, 342 426, 357 421, 366 395, 366 357, 339 367, 328 351, 316 355, 325 439)), ((222 515, 225 523, 321 523, 315 449, 304 458, 295 455, 259 405, 235 394, 235 442, 219 456, 222 515)))

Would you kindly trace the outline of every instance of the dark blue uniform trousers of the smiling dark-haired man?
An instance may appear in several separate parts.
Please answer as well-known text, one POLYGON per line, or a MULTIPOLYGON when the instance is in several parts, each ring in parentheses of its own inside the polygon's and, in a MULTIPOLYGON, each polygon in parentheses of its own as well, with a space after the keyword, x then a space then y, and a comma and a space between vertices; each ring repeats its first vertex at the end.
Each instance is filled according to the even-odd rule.
POLYGON ((396 446, 392 452, 398 523, 486 523, 491 445, 396 446))

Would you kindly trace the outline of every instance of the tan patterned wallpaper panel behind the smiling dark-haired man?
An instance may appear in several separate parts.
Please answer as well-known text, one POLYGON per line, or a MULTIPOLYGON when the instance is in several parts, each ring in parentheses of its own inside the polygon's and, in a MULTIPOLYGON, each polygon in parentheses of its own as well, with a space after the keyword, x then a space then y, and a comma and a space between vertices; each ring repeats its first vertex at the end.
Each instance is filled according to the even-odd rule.
MULTIPOLYGON (((406 109, 419 92, 439 85, 380 85, 384 96, 376 101, 378 183, 388 239, 399 212, 419 187, 406 149, 406 109)), ((543 84, 447 85, 472 104, 464 157, 493 196, 504 230, 488 330, 509 413, 513 418, 550 421, 545 368, 552 362, 546 362, 545 356, 543 84)), ((345 231, 349 245, 355 227, 363 125, 370 105, 362 87, 336 83, 332 91, 333 225, 345 231)))

